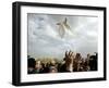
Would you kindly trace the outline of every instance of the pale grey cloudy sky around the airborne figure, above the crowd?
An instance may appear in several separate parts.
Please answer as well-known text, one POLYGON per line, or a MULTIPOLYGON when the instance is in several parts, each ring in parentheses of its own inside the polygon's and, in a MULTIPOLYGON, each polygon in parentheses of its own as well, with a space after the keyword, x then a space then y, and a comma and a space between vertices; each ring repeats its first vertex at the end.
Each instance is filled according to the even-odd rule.
POLYGON ((28 13, 27 27, 27 53, 31 56, 62 59, 66 50, 81 52, 83 56, 97 52, 97 16, 28 13), (57 23, 65 17, 71 29, 61 38, 57 23))

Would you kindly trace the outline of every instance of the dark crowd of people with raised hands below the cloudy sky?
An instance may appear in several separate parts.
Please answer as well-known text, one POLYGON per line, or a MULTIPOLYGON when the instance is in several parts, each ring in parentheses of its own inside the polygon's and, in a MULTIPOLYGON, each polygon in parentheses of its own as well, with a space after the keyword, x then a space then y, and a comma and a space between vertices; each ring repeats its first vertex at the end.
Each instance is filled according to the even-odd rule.
POLYGON ((57 62, 53 59, 50 63, 44 63, 40 60, 35 60, 28 56, 27 59, 27 73, 66 73, 66 72, 89 72, 97 71, 98 54, 87 54, 83 58, 81 53, 66 51, 62 62, 57 62))

